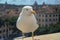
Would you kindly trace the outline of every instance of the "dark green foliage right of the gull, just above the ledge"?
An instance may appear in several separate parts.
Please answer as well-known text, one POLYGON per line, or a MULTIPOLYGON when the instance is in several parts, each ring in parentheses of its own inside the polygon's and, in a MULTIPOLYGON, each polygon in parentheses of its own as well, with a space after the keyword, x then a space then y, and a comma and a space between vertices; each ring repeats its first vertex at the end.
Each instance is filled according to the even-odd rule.
POLYGON ((60 23, 57 23, 55 25, 47 26, 47 27, 39 27, 35 31, 35 35, 40 35, 40 34, 50 34, 50 33, 56 33, 60 32, 60 23))

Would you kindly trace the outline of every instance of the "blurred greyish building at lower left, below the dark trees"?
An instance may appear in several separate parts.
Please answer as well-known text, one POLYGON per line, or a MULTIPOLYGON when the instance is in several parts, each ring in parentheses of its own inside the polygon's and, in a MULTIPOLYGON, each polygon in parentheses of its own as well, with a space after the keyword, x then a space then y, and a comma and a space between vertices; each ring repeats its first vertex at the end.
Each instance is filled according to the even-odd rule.
POLYGON ((11 25, 2 25, 0 26, 0 40, 7 40, 7 38, 13 34, 13 28, 14 26, 11 25))

